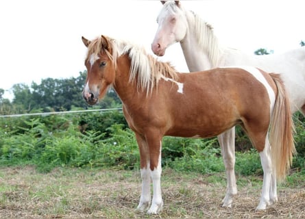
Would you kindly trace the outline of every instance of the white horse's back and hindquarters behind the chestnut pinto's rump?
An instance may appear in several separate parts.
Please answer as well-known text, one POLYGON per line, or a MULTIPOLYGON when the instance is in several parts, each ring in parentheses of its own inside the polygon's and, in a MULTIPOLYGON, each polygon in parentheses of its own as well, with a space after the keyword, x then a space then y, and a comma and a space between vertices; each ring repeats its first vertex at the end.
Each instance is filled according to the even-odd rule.
POLYGON ((305 104, 305 47, 285 53, 253 55, 235 49, 227 49, 219 62, 220 66, 255 66, 267 73, 280 74, 291 100, 291 111, 300 110, 305 104))

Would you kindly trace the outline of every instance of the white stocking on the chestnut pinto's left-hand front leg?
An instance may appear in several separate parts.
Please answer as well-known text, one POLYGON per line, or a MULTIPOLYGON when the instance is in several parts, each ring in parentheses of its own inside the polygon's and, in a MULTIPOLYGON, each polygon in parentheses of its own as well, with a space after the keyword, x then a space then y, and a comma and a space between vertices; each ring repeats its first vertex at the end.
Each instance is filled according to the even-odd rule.
POLYGON ((140 203, 138 203, 138 207, 136 207, 139 211, 146 211, 150 205, 150 168, 141 169, 141 178, 142 178, 142 192, 140 203))

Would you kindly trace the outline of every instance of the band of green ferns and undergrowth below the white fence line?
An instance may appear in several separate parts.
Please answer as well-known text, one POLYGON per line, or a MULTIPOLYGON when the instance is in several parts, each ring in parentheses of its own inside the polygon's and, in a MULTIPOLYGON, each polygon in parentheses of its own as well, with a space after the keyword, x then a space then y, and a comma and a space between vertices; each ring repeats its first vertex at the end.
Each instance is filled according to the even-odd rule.
MULTIPOLYGON (((303 116, 295 114, 298 154, 293 171, 305 173, 303 116)), ((0 118, 1 166, 36 166, 41 172, 56 167, 115 167, 133 170, 139 166, 134 133, 120 110, 80 112, 49 116, 0 118)), ((241 129, 236 133, 237 175, 263 175, 260 158, 241 129)), ((182 172, 224 172, 217 138, 164 137, 162 166, 182 172)))

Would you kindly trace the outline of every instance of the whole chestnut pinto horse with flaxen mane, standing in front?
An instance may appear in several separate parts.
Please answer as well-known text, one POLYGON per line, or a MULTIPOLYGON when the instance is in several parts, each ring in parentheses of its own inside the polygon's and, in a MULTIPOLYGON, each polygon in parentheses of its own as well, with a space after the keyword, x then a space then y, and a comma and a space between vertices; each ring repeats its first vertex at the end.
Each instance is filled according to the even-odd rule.
POLYGON ((260 153, 264 178, 259 208, 276 201, 271 178, 285 177, 295 149, 291 109, 279 75, 249 66, 177 73, 122 40, 101 36, 82 41, 88 47, 84 99, 94 105, 113 86, 138 142, 143 180, 138 210, 158 214, 162 209, 163 136, 210 138, 234 125, 245 129, 260 153))

